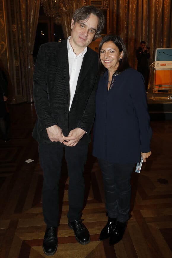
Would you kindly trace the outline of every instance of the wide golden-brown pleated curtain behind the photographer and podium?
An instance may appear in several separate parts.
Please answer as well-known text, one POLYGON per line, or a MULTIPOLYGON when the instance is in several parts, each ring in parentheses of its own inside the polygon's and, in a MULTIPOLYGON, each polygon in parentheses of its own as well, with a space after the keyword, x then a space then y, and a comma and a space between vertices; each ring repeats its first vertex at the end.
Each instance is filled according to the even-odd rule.
POLYGON ((109 0, 112 24, 110 34, 124 40, 130 66, 137 67, 136 49, 141 40, 151 48, 149 65, 157 48, 172 48, 171 0, 109 0))

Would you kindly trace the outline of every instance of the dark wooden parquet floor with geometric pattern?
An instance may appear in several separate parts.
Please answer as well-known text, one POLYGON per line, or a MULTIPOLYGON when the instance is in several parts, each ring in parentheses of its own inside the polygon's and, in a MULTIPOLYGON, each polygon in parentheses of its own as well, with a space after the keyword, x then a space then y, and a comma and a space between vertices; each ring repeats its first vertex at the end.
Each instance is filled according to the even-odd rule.
MULTIPOLYGON (((42 170, 37 143, 31 137, 34 105, 9 106, 11 141, 0 140, 0 257, 41 258, 46 225, 42 216, 42 170), (33 160, 26 163, 26 160, 33 160)), ((64 160, 60 180, 59 258, 172 257, 172 121, 151 122, 152 155, 141 173, 133 172, 131 218, 118 244, 98 241, 107 217, 101 172, 91 155, 85 167, 86 196, 82 218, 91 242, 80 245, 67 225, 68 176, 64 160)))

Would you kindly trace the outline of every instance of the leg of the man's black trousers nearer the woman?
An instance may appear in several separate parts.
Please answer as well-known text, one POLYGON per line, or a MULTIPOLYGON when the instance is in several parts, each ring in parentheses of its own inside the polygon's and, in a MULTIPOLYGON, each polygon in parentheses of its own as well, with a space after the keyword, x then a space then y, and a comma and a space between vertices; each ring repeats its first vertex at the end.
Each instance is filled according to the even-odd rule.
POLYGON ((69 175, 69 212, 68 220, 81 218, 84 203, 85 181, 84 166, 87 161, 88 144, 65 146, 65 158, 69 175))

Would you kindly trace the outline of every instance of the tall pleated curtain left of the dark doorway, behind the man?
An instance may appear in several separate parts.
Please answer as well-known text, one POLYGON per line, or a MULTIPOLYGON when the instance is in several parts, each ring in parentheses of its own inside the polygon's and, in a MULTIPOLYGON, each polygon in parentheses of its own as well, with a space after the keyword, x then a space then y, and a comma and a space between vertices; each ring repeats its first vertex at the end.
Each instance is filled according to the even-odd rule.
POLYGON ((33 101, 32 52, 39 18, 40 0, 17 0, 17 26, 24 101, 33 101))

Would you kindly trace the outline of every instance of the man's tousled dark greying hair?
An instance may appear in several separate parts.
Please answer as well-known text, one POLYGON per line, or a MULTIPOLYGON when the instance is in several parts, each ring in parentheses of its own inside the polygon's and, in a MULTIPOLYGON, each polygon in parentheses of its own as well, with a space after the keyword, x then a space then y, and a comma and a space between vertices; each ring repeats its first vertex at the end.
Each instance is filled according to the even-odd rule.
POLYGON ((100 33, 103 30, 105 25, 105 17, 103 15, 103 12, 100 9, 94 7, 93 5, 82 6, 74 12, 72 18, 74 20, 74 23, 79 21, 84 21, 90 18, 91 13, 98 17, 97 31, 94 36, 94 40, 95 40, 101 36, 100 33))

